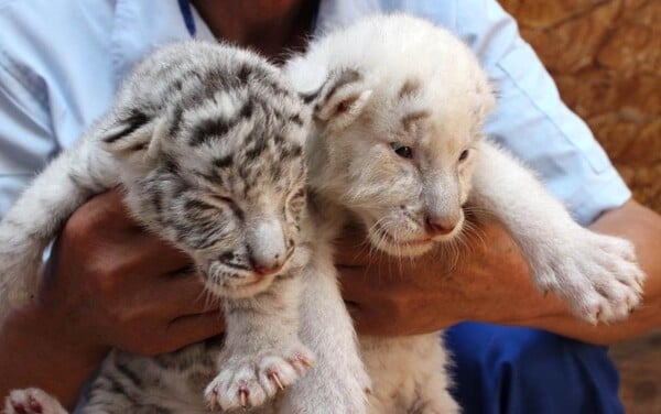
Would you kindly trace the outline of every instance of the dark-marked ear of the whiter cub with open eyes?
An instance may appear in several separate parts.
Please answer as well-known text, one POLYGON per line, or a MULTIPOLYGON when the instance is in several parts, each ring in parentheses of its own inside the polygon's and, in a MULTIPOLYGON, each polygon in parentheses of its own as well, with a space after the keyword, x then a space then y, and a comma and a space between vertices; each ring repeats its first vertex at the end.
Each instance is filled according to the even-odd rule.
POLYGON ((358 70, 333 70, 316 99, 312 99, 315 102, 314 117, 328 128, 346 128, 360 116, 371 92, 358 70))

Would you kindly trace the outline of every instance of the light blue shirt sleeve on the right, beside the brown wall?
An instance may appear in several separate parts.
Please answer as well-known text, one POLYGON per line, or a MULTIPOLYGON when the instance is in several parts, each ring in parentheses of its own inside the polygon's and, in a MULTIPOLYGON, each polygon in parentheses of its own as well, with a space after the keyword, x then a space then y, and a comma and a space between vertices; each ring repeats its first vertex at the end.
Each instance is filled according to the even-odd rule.
POLYGON ((537 172, 588 225, 631 193, 589 128, 562 101, 514 20, 495 0, 456 2, 456 31, 478 54, 498 95, 486 132, 537 172))

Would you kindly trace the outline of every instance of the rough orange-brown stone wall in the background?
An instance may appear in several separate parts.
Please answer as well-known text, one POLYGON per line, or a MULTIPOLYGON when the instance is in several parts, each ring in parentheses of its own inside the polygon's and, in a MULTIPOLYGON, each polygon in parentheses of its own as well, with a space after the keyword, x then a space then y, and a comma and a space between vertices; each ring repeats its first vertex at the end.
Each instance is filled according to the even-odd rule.
POLYGON ((632 188, 661 213, 661 0, 500 0, 632 188))

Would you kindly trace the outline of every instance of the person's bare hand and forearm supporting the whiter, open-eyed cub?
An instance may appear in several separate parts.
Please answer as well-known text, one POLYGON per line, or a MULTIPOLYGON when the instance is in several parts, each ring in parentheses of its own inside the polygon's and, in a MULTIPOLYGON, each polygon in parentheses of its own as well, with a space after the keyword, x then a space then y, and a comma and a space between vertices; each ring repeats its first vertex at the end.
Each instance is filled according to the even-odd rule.
POLYGON ((347 233, 337 259, 345 299, 358 330, 375 335, 422 334, 479 320, 607 345, 661 326, 661 217, 631 200, 602 215, 590 229, 629 239, 648 274, 643 305, 626 322, 593 327, 552 294, 543 297, 513 241, 495 222, 475 224, 458 251, 437 250, 415 261, 357 257, 361 236, 347 233), (460 258, 456 265, 454 254, 460 258))

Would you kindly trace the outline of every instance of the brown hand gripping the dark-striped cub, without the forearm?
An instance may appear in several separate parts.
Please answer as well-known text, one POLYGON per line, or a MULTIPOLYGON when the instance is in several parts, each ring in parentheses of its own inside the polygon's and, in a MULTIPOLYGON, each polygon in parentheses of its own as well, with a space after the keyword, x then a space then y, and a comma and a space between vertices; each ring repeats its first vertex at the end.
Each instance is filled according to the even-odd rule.
POLYGON ((175 350, 221 331, 191 260, 133 221, 115 189, 67 221, 41 281, 36 312, 83 356, 110 347, 175 350))

